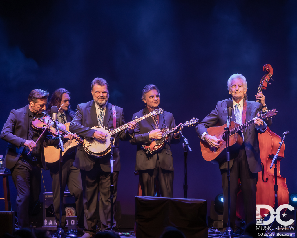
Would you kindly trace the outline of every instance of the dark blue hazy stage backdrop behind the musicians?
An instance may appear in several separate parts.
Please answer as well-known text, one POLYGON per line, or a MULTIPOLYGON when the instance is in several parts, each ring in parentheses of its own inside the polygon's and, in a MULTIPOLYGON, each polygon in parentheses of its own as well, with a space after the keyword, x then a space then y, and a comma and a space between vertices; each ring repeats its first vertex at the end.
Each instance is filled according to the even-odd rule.
MULTIPOLYGON (((109 101, 124 108, 126 122, 144 107, 140 97, 147 84, 159 87, 160 107, 172 112, 177 124, 193 117, 201 121, 217 101, 229 97, 227 80, 234 73, 247 78, 248 99, 255 100, 263 65, 271 64, 274 81, 264 91, 265 102, 279 111, 271 130, 278 135, 290 131, 280 172, 289 192, 297 192, 296 10, 293 0, 1 1, 1 129, 12 109, 28 104, 32 89, 48 90, 51 96, 64 87, 76 109, 92 99, 95 77, 108 81, 109 101)), ((194 127, 183 134, 192 148, 188 198, 206 199, 209 209, 222 193, 220 171, 201 156, 194 127)), ((6 147, 1 140, 0 154, 6 147)), ((134 214, 136 146, 121 142, 120 151, 118 200, 122 214, 134 214)), ((173 195, 183 198, 182 143, 172 151, 173 195)), ((49 171, 43 176, 51 192, 49 171)), ((10 191, 16 210, 12 180, 10 191)))

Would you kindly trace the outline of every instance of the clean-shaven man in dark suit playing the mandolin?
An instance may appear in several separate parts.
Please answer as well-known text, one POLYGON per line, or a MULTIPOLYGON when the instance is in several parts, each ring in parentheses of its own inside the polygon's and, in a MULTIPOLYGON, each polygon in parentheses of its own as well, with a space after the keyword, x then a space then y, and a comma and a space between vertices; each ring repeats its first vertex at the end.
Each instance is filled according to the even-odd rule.
MULTIPOLYGON (((132 120, 159 108, 159 89, 153 84, 146 85, 142 90, 141 99, 146 107, 135 113, 132 120)), ((160 195, 173 198, 173 158, 170 144, 179 143, 179 132, 171 134, 165 145, 153 154, 147 153, 142 147, 142 145, 149 145, 151 140, 161 139, 160 129, 165 126, 176 129, 173 115, 166 111, 162 115, 149 117, 137 123, 135 135, 130 140, 132 145, 137 145, 135 170, 139 172, 140 187, 144 196, 154 196, 154 185, 157 179, 160 195)))

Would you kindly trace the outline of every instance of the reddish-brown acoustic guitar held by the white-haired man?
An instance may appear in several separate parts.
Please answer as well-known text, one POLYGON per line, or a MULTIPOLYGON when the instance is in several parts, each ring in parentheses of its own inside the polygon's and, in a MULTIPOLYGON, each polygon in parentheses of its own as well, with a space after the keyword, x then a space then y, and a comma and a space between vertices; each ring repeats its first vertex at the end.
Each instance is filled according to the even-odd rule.
MULTIPOLYGON (((258 118, 260 119, 270 118, 272 116, 277 115, 277 112, 278 111, 276 111, 276 109, 272 109, 258 116, 258 118)), ((235 121, 231 121, 230 129, 229 129, 230 151, 236 150, 242 145, 243 139, 242 139, 241 130, 252 125, 253 123, 254 123, 254 120, 250 120, 242 125, 239 125, 235 121)), ((226 147, 227 147, 227 132, 225 131, 226 126, 227 126, 227 123, 223 126, 213 126, 213 127, 207 128, 207 133, 209 135, 217 137, 220 143, 220 147, 218 148, 211 147, 207 142, 200 140, 202 156, 206 161, 210 161, 214 164, 218 164, 226 159, 226 147)))

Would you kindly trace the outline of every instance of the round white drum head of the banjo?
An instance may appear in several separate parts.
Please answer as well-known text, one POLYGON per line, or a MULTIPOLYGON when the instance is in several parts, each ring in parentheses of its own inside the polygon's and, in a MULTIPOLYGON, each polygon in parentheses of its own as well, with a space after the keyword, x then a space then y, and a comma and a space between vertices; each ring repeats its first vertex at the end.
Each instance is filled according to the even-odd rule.
POLYGON ((110 130, 105 126, 94 126, 91 129, 95 129, 96 131, 101 131, 106 135, 105 140, 83 140, 83 148, 85 151, 94 157, 104 156, 111 151, 111 141, 110 141, 110 130))

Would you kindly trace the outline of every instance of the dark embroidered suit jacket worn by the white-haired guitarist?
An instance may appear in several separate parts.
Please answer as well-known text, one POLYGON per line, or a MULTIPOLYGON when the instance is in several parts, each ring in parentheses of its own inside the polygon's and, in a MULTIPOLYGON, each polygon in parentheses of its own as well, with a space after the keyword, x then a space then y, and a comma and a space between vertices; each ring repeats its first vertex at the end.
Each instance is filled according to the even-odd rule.
MULTIPOLYGON (((207 128, 211 126, 216 126, 219 123, 219 126, 224 125, 227 123, 227 101, 231 99, 225 99, 223 101, 219 101, 217 103, 216 108, 203 119, 196 126, 196 131, 201 138, 201 135, 204 132, 207 132, 207 128)), ((252 120, 257 113, 261 114, 262 105, 258 102, 247 101, 247 114, 246 114, 246 122, 252 120)), ((236 121, 234 116, 234 110, 232 111, 232 119, 236 121)), ((268 126, 272 124, 272 120, 266 120, 268 126)), ((261 159, 260 159, 260 152, 259 152, 259 141, 258 141, 258 133, 263 133, 265 131, 261 130, 260 128, 256 128, 255 125, 252 124, 244 129, 244 148, 247 154, 247 161, 249 164, 249 169, 252 173, 257 173, 262 170, 261 166, 261 159)), ((231 152, 231 151, 230 151, 231 152)), ((230 156, 230 168, 233 165, 233 158, 230 156)), ((227 162, 224 162, 219 165, 220 169, 227 169, 227 162)))

